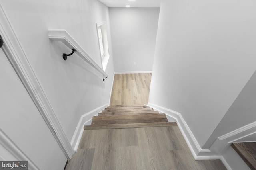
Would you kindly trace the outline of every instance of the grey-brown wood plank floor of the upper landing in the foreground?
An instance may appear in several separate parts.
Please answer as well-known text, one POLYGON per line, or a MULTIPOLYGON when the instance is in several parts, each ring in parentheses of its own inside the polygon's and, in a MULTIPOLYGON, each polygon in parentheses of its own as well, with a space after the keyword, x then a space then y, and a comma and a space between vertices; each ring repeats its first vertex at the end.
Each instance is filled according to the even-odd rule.
POLYGON ((66 170, 226 170, 194 160, 178 126, 85 130, 66 170))

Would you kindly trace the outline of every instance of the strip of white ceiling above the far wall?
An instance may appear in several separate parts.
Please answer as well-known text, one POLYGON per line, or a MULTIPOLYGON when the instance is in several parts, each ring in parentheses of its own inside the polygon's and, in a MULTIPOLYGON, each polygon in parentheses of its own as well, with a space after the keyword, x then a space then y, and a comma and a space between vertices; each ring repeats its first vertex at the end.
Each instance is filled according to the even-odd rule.
POLYGON ((99 0, 108 7, 160 7, 161 0, 99 0))

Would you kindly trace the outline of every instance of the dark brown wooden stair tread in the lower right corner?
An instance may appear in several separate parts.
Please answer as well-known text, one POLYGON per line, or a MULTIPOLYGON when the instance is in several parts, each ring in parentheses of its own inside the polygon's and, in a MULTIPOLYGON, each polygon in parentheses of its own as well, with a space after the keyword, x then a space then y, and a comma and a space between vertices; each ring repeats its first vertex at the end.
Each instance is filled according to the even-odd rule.
POLYGON ((256 170, 256 142, 232 143, 231 146, 252 170, 256 170))

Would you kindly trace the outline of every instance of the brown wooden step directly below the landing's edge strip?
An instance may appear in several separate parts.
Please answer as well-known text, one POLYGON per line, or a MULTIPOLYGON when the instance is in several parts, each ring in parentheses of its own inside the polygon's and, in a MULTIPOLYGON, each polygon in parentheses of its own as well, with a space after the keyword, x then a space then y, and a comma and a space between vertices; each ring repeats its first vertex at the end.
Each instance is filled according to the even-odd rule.
POLYGON ((100 115, 92 118, 91 125, 168 122, 165 114, 100 115))

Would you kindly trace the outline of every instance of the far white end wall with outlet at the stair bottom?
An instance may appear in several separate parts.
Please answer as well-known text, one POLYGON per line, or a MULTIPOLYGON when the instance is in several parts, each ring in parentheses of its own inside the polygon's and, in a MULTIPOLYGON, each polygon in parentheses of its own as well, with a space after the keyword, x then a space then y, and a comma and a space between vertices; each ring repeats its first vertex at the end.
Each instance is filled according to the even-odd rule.
POLYGON ((115 71, 152 71, 159 8, 109 8, 109 13, 115 71))

